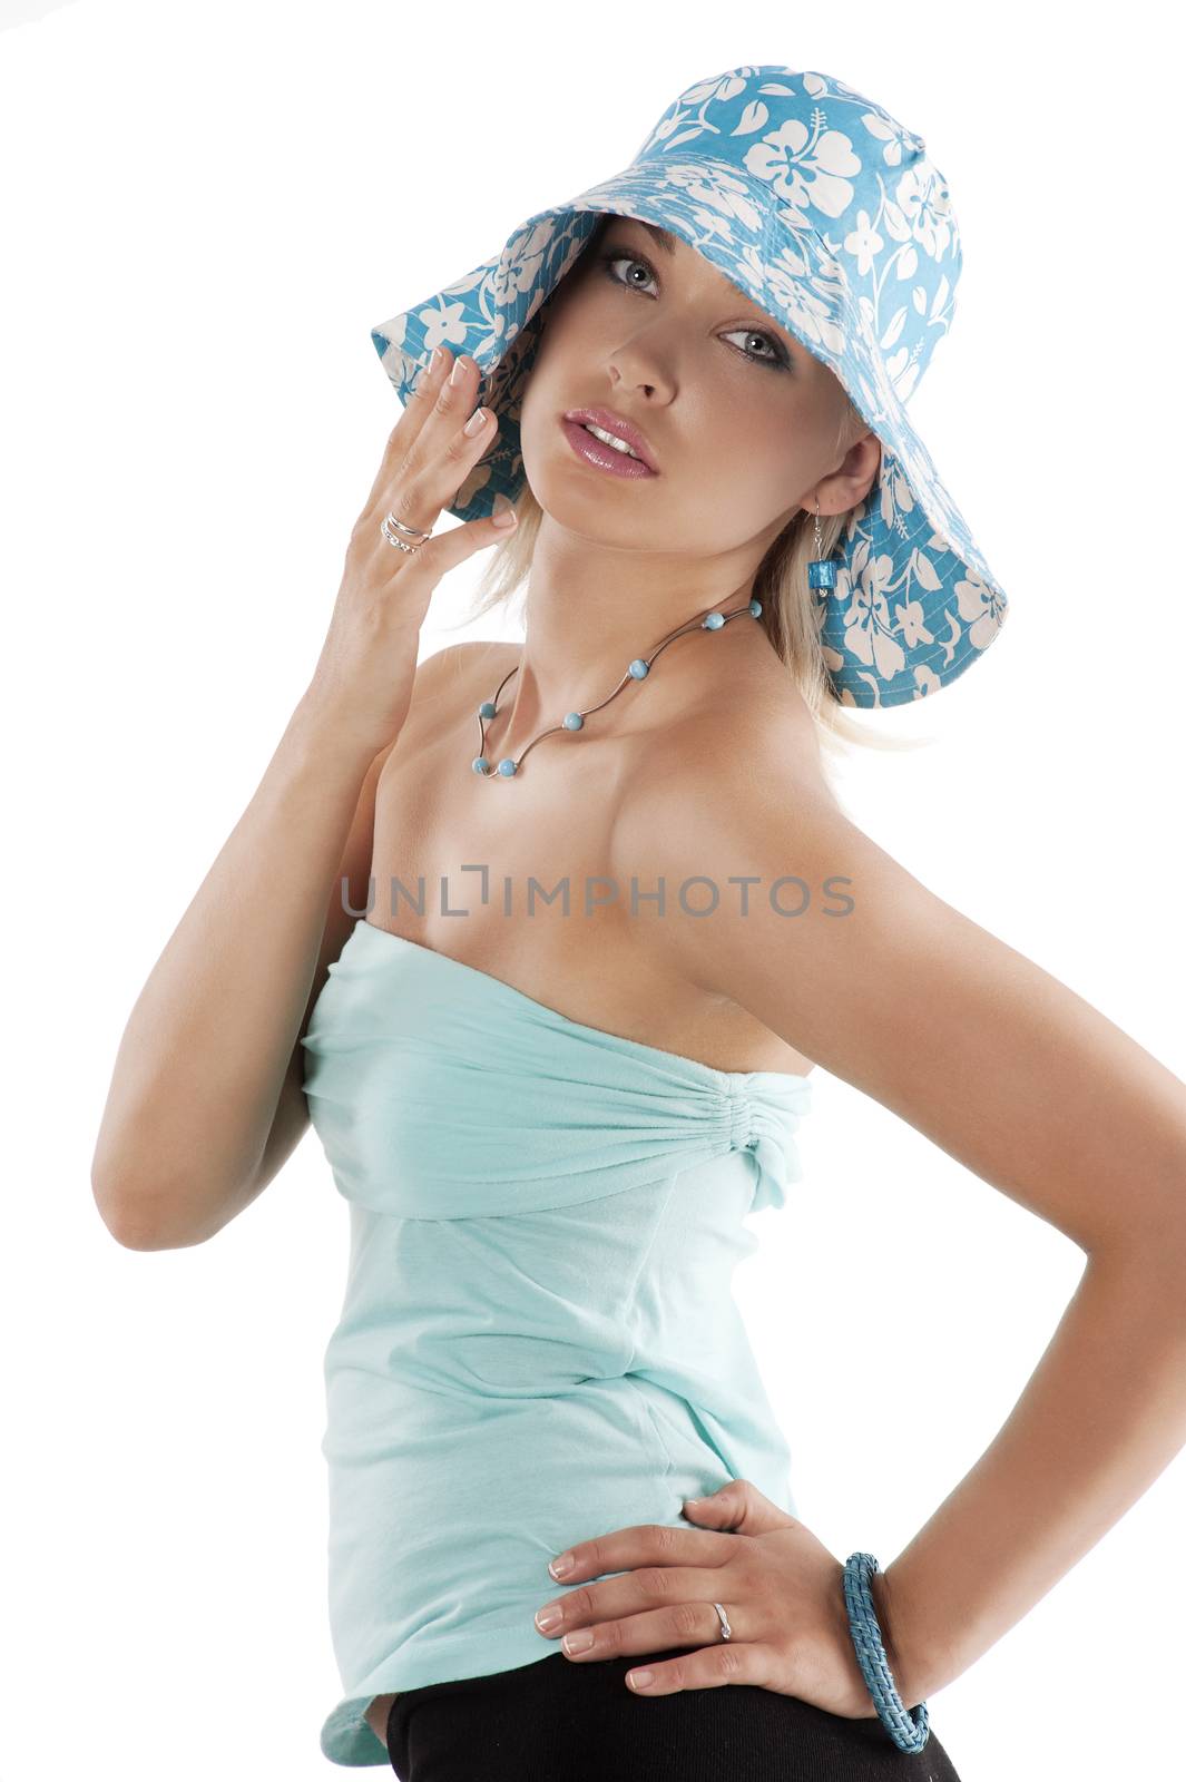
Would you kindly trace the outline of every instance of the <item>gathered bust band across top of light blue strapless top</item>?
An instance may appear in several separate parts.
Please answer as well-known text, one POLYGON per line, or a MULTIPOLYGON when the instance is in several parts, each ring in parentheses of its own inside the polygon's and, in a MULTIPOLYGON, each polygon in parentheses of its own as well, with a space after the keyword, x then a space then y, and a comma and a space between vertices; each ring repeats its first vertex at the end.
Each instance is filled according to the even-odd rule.
POLYGON ((303 1039, 338 1190, 404 1219, 543 1212, 732 1149, 755 1208, 798 1180, 810 1082, 718 1071, 602 1032, 474 966, 356 923, 303 1039))

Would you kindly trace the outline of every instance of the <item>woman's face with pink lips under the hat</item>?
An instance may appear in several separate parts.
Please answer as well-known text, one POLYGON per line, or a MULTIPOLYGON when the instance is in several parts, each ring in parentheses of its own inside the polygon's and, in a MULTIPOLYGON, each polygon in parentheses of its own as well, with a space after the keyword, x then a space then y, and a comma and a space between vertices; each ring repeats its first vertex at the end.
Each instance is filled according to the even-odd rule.
MULTIPOLYGON (((844 394, 833 372, 678 237, 670 251, 632 217, 609 216, 554 290, 524 390, 527 481, 552 522, 605 545, 657 552, 764 551, 837 451, 844 394), (659 474, 591 467, 561 428, 607 408, 646 437, 659 474)), ((849 447, 865 486, 874 435, 849 447), (853 456, 853 453, 857 456, 853 456)), ((821 508, 828 511, 821 499, 821 508)))

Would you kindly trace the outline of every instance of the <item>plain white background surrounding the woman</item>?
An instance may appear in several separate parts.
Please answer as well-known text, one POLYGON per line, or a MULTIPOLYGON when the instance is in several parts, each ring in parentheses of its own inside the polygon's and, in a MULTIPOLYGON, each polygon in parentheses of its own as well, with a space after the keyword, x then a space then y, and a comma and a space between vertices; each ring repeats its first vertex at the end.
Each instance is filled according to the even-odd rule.
MULTIPOLYGON (((132 1001, 317 658, 397 413, 370 328, 623 166, 693 80, 833 73, 949 180, 965 269, 912 415, 1010 625, 937 700, 874 715, 933 741, 858 754, 844 798, 1186 1075, 1174 14, 826 12, 2 7, 4 1782, 333 1773, 319 1440, 345 1206, 306 1137, 215 1242, 125 1251, 91 1151, 132 1001)), ((475 570, 435 595, 424 654, 475 570)), ((801 1151, 735 1290, 803 1520, 889 1565, 997 1433, 1083 1256, 823 1071, 801 1151)), ((1174 1766, 1184 1488, 1179 1456, 931 1698, 963 1782, 1174 1766)))

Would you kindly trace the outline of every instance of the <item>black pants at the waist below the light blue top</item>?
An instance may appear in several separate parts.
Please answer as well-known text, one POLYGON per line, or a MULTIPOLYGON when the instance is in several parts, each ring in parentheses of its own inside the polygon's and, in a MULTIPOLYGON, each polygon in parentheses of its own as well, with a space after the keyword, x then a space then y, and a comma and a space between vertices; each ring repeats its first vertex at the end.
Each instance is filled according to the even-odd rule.
POLYGON ((933 1727, 921 1752, 899 1752, 876 1718, 757 1684, 634 1695, 625 1673, 638 1664, 552 1652, 402 1689, 386 1721, 392 1770, 401 1782, 960 1782, 933 1727))

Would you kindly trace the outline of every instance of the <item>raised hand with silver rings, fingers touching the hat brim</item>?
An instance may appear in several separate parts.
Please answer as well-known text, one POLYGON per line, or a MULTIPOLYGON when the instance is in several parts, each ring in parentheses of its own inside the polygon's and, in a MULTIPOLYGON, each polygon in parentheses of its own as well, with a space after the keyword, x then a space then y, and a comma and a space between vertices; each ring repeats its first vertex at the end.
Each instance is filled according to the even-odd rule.
POLYGON ((347 731, 374 754, 397 736, 408 715, 433 588, 463 558, 509 533, 493 519, 467 520, 408 554, 379 529, 390 511, 406 526, 431 531, 497 438, 499 422, 488 408, 470 413, 475 362, 465 355, 456 360, 456 381, 452 369, 452 355, 440 347, 392 429, 351 533, 329 631, 305 695, 305 704, 324 715, 335 732, 347 731), (481 424, 467 433, 475 419, 481 424))

